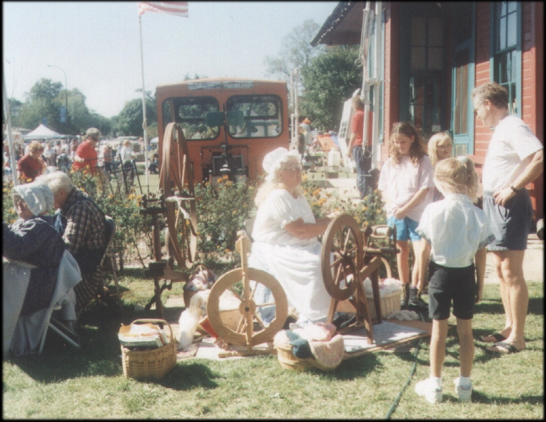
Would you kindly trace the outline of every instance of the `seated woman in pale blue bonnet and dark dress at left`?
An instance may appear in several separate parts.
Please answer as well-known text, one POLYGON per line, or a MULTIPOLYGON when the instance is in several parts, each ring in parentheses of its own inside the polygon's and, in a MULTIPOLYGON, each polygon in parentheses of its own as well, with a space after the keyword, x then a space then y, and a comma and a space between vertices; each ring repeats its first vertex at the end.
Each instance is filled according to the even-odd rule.
POLYGON ((2 222, 2 255, 11 260, 36 265, 21 309, 21 316, 49 307, 65 243, 58 231, 42 216, 53 210, 53 193, 46 184, 32 182, 13 188, 13 204, 19 219, 2 222))

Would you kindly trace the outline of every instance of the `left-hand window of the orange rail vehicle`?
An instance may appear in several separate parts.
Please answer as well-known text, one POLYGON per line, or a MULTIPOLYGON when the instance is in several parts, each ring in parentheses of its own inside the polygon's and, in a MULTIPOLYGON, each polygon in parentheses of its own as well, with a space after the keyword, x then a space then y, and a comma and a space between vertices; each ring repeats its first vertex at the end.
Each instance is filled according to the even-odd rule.
POLYGON ((218 101, 212 96, 169 98, 165 103, 172 103, 174 121, 179 122, 186 141, 196 139, 215 139, 218 128, 210 127, 205 122, 205 115, 210 111, 220 110, 218 101))

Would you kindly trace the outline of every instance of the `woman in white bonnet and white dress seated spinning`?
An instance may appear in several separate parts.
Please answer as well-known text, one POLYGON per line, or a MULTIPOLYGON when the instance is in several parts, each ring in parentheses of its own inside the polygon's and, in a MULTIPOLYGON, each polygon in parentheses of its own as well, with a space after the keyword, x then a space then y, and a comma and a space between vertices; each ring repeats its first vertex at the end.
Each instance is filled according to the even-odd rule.
POLYGON ((281 283, 288 305, 296 308, 298 324, 324 321, 330 296, 322 281, 321 248, 329 218, 315 219, 301 191, 298 151, 277 148, 265 155, 267 177, 255 203, 249 267, 262 269, 281 283))

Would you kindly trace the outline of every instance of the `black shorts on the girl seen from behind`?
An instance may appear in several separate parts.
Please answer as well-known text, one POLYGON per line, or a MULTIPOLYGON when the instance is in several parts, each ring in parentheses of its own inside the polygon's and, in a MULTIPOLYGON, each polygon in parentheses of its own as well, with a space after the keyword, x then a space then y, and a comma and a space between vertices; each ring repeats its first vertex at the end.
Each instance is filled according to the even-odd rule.
POLYGON ((470 267, 443 267, 432 261, 428 263, 428 316, 431 319, 450 317, 451 302, 453 314, 459 319, 472 319, 476 303, 476 272, 470 267))

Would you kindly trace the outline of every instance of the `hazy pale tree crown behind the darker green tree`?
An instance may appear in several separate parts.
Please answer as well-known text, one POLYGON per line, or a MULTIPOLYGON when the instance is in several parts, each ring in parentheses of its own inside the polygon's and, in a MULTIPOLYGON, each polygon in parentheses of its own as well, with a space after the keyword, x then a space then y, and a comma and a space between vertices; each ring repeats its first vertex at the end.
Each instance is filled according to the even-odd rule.
POLYGON ((319 28, 320 25, 315 23, 315 20, 308 19, 288 33, 282 41, 279 56, 277 58, 265 57, 266 75, 277 76, 289 82, 291 72, 300 68, 299 82, 305 87, 305 81, 301 77, 303 70, 310 65, 312 58, 324 53, 324 46, 313 47, 310 44, 319 28))

